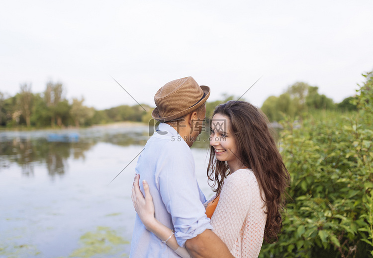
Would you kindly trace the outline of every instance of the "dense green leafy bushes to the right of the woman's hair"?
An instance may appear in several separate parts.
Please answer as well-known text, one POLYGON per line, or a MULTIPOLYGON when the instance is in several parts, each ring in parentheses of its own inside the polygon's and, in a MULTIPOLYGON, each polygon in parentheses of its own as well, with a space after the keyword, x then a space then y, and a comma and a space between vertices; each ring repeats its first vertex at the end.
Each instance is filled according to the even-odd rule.
POLYGON ((287 118, 280 150, 291 174, 283 232, 261 257, 368 257, 373 250, 373 130, 359 113, 287 118), (367 204, 368 203, 368 204, 367 204))

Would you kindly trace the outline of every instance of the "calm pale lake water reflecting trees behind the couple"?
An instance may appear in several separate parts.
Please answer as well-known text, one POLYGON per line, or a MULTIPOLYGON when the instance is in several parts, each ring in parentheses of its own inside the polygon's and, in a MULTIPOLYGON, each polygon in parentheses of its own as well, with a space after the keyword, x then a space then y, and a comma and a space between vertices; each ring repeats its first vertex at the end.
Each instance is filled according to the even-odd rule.
MULTIPOLYGON (((133 159, 148 138, 145 126, 0 132, 0 258, 128 257, 133 159), (78 142, 47 140, 71 132, 78 142)), ((207 144, 192 153, 208 197, 207 144)))

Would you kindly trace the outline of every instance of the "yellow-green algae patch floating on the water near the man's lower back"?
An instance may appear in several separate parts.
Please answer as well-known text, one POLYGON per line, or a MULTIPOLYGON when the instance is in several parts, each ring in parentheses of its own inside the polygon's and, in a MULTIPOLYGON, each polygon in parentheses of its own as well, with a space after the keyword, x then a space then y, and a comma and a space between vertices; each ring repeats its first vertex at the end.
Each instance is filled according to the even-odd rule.
POLYGON ((121 245, 128 245, 122 237, 109 227, 97 227, 80 238, 81 248, 73 251, 70 257, 91 258, 100 255, 118 255, 123 250, 121 245))

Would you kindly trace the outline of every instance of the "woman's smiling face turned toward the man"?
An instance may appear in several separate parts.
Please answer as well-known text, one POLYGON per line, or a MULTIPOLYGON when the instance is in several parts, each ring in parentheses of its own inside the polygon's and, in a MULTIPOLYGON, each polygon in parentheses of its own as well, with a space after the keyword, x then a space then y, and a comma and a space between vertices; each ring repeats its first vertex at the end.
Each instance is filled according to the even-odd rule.
POLYGON ((241 161, 238 158, 237 145, 229 118, 215 114, 211 120, 210 130, 210 145, 214 148, 216 159, 227 161, 232 171, 232 165, 235 167, 236 164, 241 164, 241 161))

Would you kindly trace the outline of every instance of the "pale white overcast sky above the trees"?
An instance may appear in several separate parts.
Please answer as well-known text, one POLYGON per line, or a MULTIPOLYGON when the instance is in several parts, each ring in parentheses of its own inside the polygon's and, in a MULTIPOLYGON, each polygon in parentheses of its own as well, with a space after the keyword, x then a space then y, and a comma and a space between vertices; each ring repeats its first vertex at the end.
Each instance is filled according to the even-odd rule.
POLYGON ((21 83, 96 109, 154 106, 168 81, 192 76, 262 106, 304 81, 340 102, 373 69, 373 0, 1 1, 0 92, 21 83))

